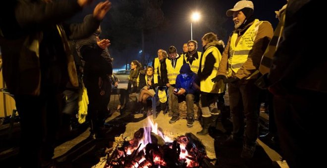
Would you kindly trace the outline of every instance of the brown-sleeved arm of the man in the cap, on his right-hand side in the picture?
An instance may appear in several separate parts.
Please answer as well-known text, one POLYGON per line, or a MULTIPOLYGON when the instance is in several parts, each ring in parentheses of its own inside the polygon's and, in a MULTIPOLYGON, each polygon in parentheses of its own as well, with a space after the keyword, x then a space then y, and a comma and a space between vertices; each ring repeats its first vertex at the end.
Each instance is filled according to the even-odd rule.
POLYGON ((259 69, 261 58, 270 40, 272 39, 272 36, 272 25, 265 21, 259 26, 258 34, 252 47, 252 52, 243 64, 242 68, 237 71, 235 75, 237 78, 247 78, 259 69))

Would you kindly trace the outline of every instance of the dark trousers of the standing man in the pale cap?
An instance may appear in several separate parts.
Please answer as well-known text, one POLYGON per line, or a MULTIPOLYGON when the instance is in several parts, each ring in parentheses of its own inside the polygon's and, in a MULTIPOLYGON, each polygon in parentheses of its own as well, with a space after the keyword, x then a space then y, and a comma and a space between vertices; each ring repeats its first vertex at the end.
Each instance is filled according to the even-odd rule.
POLYGON ((246 119, 245 144, 256 145, 259 126, 259 91, 255 80, 228 84, 229 105, 233 121, 233 137, 243 138, 244 117, 246 119))

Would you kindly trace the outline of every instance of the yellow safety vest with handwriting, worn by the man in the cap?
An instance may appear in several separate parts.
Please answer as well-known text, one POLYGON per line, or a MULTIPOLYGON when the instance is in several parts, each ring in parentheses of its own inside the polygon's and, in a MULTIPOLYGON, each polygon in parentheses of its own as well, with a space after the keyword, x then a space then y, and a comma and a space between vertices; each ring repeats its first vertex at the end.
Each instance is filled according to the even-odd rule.
MULTIPOLYGON (((228 58, 228 71, 227 77, 231 77, 232 71, 237 73, 237 71, 242 68, 245 61, 248 59, 249 54, 252 52, 252 46, 256 39, 259 26, 263 23, 263 21, 259 21, 258 19, 254 20, 254 23, 246 30, 243 34, 237 45, 235 46, 235 41, 238 37, 237 32, 234 32, 230 39, 229 45, 229 58, 228 58)), ((255 71, 249 78, 255 74, 259 73, 259 71, 255 71)))

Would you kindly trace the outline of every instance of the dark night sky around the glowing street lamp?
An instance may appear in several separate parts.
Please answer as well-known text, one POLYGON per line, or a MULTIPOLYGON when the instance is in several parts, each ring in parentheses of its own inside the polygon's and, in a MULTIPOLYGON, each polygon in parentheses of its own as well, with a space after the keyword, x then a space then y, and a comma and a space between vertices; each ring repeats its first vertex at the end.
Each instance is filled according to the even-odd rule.
MULTIPOLYGON (((111 0, 112 3, 115 1, 116 0, 111 0)), ((152 61, 153 58, 157 56, 157 50, 159 48, 168 50, 170 45, 176 46, 178 53, 182 52, 183 43, 191 40, 190 15, 193 11, 198 11, 201 14, 200 20, 192 23, 193 40, 198 41, 199 51, 202 51, 202 36, 209 32, 216 33, 218 37, 226 43, 229 34, 233 31, 234 23, 232 22, 232 17, 227 17, 225 13, 226 10, 233 8, 237 1, 238 0, 163 0, 161 9, 164 13, 165 24, 153 30, 151 33, 146 34, 146 59, 152 61)), ((256 18, 271 22, 272 27, 275 28, 278 19, 275 18, 274 11, 279 10, 286 3, 286 0, 252 1, 254 3, 254 15, 256 18)), ((90 13, 91 11, 90 9, 85 9, 84 13, 79 14, 77 17, 81 18, 82 15, 90 13)), ((110 15, 110 11, 108 15, 110 15)), ((108 19, 110 22, 109 18, 110 17, 106 17, 105 19, 108 19)), ((111 43, 114 43, 114 41, 111 41, 111 43)), ((134 59, 141 60, 141 54, 138 52, 141 49, 141 47, 130 47, 123 51, 118 51, 114 47, 109 47, 111 55, 114 58, 114 68, 122 68, 123 65, 130 63, 130 61, 134 59)))

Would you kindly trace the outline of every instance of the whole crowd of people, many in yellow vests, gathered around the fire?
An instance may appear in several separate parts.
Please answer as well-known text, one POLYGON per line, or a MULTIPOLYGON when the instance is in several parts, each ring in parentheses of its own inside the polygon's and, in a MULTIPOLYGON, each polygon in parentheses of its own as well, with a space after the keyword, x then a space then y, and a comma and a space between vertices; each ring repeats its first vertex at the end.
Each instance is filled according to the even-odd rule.
POLYGON ((327 81, 322 73, 327 71, 327 61, 317 54, 319 61, 308 62, 313 60, 308 59, 312 51, 298 47, 300 42, 314 42, 314 36, 307 33, 314 27, 304 16, 314 17, 308 11, 318 7, 317 1, 288 0, 277 12, 280 22, 273 31, 268 21, 256 19, 252 1, 240 0, 226 11, 235 24, 226 46, 211 32, 201 39, 202 52, 198 42, 190 40, 183 44, 181 54, 175 46, 169 46, 168 52, 159 49, 152 66, 145 69, 133 60, 127 89, 117 87, 119 79, 112 73, 110 41, 99 38, 100 23, 111 2, 99 2, 83 23, 64 22, 92 1, 12 0, 0 4, 2 73, 20 116, 19 162, 23 168, 52 164, 57 132, 67 126, 84 87, 94 139, 106 136, 111 93, 121 95, 118 110, 127 105, 129 94, 138 93, 138 111, 148 114, 149 98, 159 96, 161 103, 168 103, 162 110, 171 117, 169 124, 179 120, 178 103, 186 101, 190 128, 196 104, 202 126, 197 134, 203 136, 217 125, 227 90, 233 130, 223 144, 241 146, 241 158, 251 159, 256 150, 262 94, 268 97, 272 115, 270 131, 279 137, 288 165, 306 167, 307 158, 318 157, 314 150, 323 143, 311 137, 312 130, 321 130, 322 122, 313 122, 321 120, 313 112, 324 109, 327 81))

